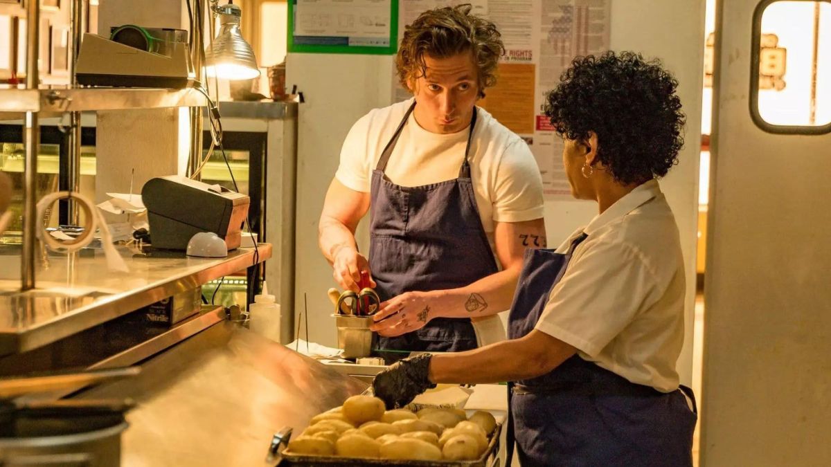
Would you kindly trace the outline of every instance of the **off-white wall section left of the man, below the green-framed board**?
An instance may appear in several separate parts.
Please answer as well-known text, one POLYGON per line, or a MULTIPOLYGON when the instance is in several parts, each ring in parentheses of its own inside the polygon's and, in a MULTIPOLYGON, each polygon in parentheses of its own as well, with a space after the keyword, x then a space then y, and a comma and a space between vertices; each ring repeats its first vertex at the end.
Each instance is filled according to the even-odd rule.
MULTIPOLYGON (((308 338, 327 346, 337 344, 330 316, 334 307, 326 295, 335 283, 317 248, 317 219, 352 124, 371 109, 391 104, 392 70, 389 56, 290 53, 286 61, 286 86, 291 90, 296 84, 306 99, 297 127, 295 314, 302 312, 306 293, 308 338)), ((366 219, 357 237, 362 251, 368 251, 366 219)), ((297 322, 294 326, 293 332, 297 322)))

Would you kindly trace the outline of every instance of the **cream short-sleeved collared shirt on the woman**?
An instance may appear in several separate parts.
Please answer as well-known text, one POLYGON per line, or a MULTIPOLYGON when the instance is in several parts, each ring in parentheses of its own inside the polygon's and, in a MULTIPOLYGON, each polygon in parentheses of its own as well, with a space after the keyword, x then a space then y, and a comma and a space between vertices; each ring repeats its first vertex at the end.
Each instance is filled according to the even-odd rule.
POLYGON ((684 259, 658 182, 617 200, 575 232, 574 250, 536 328, 633 383, 671 392, 684 343, 684 259))

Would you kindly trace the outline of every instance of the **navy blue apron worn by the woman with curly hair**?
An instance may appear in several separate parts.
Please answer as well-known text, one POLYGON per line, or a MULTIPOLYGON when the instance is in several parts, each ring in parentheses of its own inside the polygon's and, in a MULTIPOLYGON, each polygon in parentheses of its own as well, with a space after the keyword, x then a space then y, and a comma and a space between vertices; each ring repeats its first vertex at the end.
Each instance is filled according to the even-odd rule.
MULTIPOLYGON (((574 248, 525 251, 508 323, 509 339, 531 332, 574 248)), ((689 388, 665 394, 571 356, 548 374, 509 384, 508 465, 691 466, 695 399, 689 388), (690 397, 694 410, 687 406, 690 397)))

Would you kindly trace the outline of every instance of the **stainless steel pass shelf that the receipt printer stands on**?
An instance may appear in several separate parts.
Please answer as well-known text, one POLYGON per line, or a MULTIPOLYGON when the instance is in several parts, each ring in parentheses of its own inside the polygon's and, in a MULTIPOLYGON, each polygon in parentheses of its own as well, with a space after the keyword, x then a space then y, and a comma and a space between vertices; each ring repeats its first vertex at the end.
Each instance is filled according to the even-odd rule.
MULTIPOLYGON (((7 247, 3 249, 8 249, 7 247)), ((28 351, 199 287, 253 265, 253 248, 238 248, 226 258, 134 255, 120 247, 130 273, 108 273, 106 258, 49 258, 37 271, 37 288, 19 292, 20 255, 0 249, 0 355, 28 351)), ((270 243, 259 244, 259 262, 271 258, 270 243)))

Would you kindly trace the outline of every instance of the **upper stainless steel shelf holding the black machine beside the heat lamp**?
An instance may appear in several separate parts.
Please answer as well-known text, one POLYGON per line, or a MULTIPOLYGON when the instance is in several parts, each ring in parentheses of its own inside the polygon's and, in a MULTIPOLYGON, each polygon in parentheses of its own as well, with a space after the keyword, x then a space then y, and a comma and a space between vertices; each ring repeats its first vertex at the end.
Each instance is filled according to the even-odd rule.
POLYGON ((0 112, 13 113, 199 107, 207 103, 205 96, 194 89, 0 89, 0 112))

